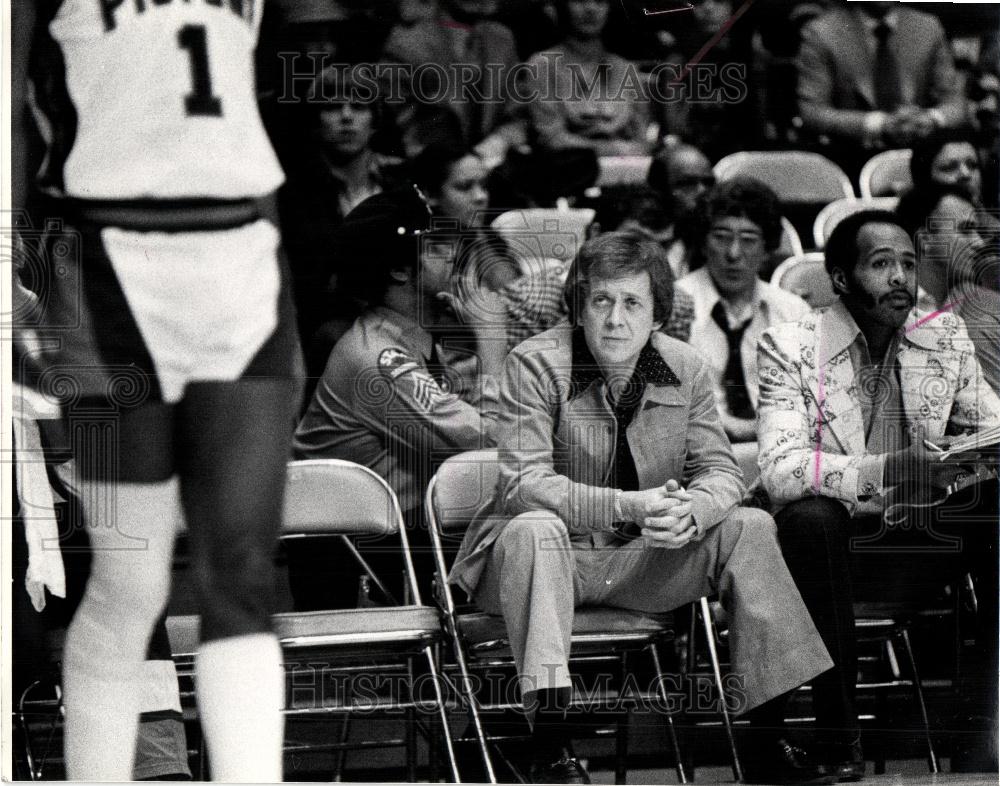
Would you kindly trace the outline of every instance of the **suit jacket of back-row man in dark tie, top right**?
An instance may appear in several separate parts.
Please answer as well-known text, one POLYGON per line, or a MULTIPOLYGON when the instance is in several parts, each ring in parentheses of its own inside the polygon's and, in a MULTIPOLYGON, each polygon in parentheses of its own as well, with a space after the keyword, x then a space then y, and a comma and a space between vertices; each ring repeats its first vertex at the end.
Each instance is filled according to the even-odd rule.
MULTIPOLYGON (((890 40, 900 66, 903 104, 937 107, 945 126, 965 121, 965 102, 944 30, 937 18, 896 7, 890 40)), ((875 100, 875 55, 861 20, 862 12, 834 8, 807 24, 798 57, 799 113, 817 134, 864 138, 864 116, 878 108, 875 100)))

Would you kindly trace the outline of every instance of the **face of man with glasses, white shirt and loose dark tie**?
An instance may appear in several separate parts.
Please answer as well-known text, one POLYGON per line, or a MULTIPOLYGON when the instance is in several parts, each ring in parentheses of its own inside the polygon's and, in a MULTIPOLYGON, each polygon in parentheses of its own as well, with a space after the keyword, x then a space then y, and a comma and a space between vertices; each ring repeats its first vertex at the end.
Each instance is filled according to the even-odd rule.
POLYGON ((726 299, 750 297, 767 260, 764 233, 749 218, 724 216, 712 222, 705 238, 705 267, 726 299))

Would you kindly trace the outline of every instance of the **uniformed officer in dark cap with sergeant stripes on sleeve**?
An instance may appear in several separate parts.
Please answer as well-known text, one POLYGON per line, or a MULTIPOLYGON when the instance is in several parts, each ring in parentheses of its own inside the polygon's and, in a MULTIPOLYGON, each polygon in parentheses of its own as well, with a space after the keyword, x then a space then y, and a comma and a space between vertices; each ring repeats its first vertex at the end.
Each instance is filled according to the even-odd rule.
MULTIPOLYGON (((389 482, 413 533, 422 589, 431 561, 418 523, 433 462, 492 444, 495 379, 506 355, 506 345, 481 334, 455 297, 452 257, 437 247, 430 227, 427 205, 407 186, 362 202, 337 232, 341 278, 369 306, 333 348, 293 441, 296 458, 354 461, 389 482), (481 384, 463 389, 464 398, 452 392, 455 374, 441 355, 441 341, 459 320, 479 339, 481 384)), ((339 544, 289 545, 297 608, 354 605, 360 571, 339 544)), ((361 551, 376 572, 398 581, 394 551, 379 544, 361 551)))

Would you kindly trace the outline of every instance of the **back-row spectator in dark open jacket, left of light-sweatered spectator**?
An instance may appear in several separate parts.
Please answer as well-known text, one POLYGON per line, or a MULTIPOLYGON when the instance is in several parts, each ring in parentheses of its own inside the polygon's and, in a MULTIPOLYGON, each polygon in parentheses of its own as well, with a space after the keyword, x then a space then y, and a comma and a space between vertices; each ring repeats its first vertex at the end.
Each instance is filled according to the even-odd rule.
POLYGON ((510 30, 487 18, 495 5, 441 0, 432 18, 389 34, 383 60, 409 67, 403 82, 410 100, 396 120, 408 157, 446 142, 475 147, 493 165, 524 143, 525 121, 507 94, 507 75, 520 61, 510 30))

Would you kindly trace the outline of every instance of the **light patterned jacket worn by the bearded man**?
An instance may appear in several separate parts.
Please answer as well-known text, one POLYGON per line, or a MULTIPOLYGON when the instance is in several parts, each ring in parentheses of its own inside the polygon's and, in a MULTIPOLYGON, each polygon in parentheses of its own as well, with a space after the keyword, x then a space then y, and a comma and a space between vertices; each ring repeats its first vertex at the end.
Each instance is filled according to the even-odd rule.
MULTIPOLYGON (((761 480, 781 506, 815 494, 852 514, 882 512, 886 454, 866 452, 856 369, 841 303, 768 330, 758 345, 761 480)), ((845 309, 846 310, 846 309, 845 309)), ((1000 399, 954 314, 911 312, 897 352, 911 438, 1000 425, 1000 399)))

